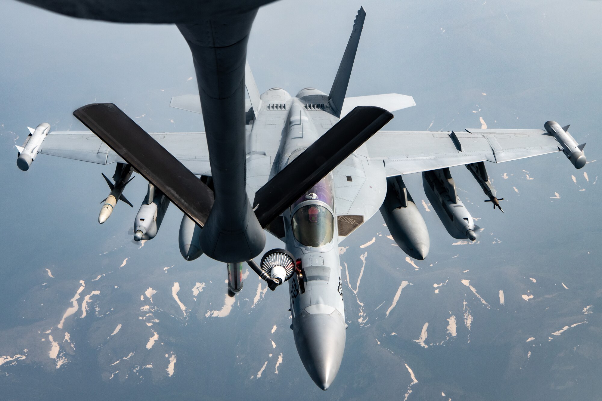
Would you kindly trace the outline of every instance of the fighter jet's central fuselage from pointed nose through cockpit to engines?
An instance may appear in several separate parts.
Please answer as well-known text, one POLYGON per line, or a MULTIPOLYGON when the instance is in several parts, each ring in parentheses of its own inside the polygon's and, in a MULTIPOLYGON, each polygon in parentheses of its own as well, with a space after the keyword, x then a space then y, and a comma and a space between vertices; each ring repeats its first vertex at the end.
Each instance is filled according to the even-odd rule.
MULTIPOLYGON (((327 95, 315 89, 304 89, 295 98, 282 89, 271 89, 262 100, 268 110, 281 111, 265 113, 265 120, 259 117, 264 134, 265 127, 273 125, 282 135, 272 174, 338 121, 327 112, 327 95)), ((247 149, 253 154, 254 148, 261 147, 261 138, 253 131, 249 138, 247 149)), ((283 213, 286 249, 297 260, 296 273, 289 280, 291 328, 303 365, 323 390, 338 373, 346 337, 334 191, 330 173, 283 213)))

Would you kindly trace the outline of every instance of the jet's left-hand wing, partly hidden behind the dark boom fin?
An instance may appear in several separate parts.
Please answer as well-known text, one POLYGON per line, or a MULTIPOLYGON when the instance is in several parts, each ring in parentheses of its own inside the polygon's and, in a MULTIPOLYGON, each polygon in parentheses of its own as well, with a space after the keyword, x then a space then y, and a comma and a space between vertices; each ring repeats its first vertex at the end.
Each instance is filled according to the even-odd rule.
MULTIPOLYGON (((194 174, 211 175, 204 132, 156 132, 151 137, 194 174)), ((39 153, 98 164, 125 163, 90 131, 51 132, 39 153)))

